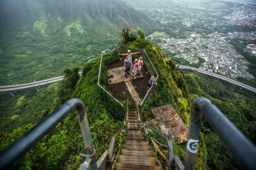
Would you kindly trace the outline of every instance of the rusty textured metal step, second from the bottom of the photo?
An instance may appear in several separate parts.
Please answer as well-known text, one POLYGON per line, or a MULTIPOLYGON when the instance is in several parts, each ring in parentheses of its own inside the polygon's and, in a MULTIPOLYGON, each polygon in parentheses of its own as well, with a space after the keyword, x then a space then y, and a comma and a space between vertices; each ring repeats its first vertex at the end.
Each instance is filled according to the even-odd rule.
POLYGON ((117 163, 124 164, 135 164, 135 165, 149 165, 157 166, 158 160, 156 157, 144 157, 144 156, 126 156, 126 155, 117 155, 117 163))

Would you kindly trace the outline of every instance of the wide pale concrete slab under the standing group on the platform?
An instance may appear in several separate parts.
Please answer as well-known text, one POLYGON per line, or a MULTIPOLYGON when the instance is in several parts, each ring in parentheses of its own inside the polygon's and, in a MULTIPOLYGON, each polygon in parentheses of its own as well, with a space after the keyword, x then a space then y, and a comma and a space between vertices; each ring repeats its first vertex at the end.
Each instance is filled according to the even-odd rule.
MULTIPOLYGON (((107 70, 107 74, 108 74, 108 83, 109 84, 115 84, 118 82, 122 82, 122 81, 127 81, 127 80, 131 80, 134 77, 132 76, 132 71, 130 71, 131 75, 127 75, 128 77, 126 78, 124 76, 124 67, 117 67, 114 69, 109 69, 107 70)), ((143 75, 141 73, 140 76, 138 76, 138 78, 142 78, 143 75)))

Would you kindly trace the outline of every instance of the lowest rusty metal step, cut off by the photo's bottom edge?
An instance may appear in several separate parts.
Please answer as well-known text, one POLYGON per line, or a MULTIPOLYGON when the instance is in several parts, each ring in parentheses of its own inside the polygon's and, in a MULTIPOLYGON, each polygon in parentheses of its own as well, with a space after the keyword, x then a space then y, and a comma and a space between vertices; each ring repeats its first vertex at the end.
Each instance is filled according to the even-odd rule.
POLYGON ((114 169, 116 170, 162 170, 160 166, 148 166, 148 165, 132 165, 132 164, 123 164, 115 163, 114 169))

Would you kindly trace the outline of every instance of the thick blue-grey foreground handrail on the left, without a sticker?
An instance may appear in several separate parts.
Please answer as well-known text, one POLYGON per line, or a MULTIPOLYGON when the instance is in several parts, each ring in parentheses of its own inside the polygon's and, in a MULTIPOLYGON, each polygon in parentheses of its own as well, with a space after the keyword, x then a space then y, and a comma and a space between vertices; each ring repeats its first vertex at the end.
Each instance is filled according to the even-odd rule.
POLYGON ((92 145, 89 123, 86 115, 84 103, 76 98, 69 99, 62 106, 57 108, 38 125, 34 126, 25 135, 17 139, 10 146, 5 148, 0 154, 0 169, 6 169, 25 155, 37 142, 39 142, 48 132, 56 127, 73 109, 76 109, 84 148, 87 155, 81 154, 85 161, 80 165, 82 169, 97 168, 97 156, 92 145))

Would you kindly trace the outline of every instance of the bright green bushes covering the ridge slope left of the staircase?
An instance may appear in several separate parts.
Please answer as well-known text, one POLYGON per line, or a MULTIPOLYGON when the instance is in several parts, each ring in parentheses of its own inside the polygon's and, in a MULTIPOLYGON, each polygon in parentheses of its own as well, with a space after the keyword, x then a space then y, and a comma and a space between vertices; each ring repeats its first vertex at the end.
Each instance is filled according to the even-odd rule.
MULTIPOLYGON (((80 76, 80 80, 75 87, 73 86, 73 83, 77 82, 77 79, 75 78, 77 75, 77 68, 73 70, 66 70, 66 79, 62 81, 59 91, 57 89, 52 90, 55 91, 55 94, 57 94, 56 92, 59 94, 68 92, 70 97, 77 97, 84 102, 90 124, 92 141, 94 148, 97 151, 98 158, 103 154, 105 149, 108 148, 111 136, 121 127, 122 120, 125 117, 120 107, 116 106, 115 101, 109 100, 108 95, 97 86, 97 77, 100 65, 99 61, 99 59, 95 59, 85 64, 83 74, 80 76)), ((102 79, 105 79, 105 83, 107 82, 106 78, 106 68, 104 68, 102 79)), ((52 86, 56 87, 56 84, 52 84, 48 88, 52 86)), ((43 95, 46 93, 47 89, 42 88, 42 92, 37 93, 43 95)), ((36 94, 36 96, 37 95, 38 94, 36 94)), ((51 97, 52 100, 56 100, 56 96, 51 97)), ((23 101, 24 98, 25 97, 19 97, 17 101, 18 106, 26 106, 26 104, 24 104, 26 102, 23 101)), ((34 98, 34 100, 35 103, 36 101, 41 102, 43 100, 44 102, 49 102, 50 105, 54 105, 54 102, 51 102, 51 100, 48 101, 47 98, 34 98)), ((63 100, 61 99, 59 101, 63 100)), ((30 104, 30 107, 35 106, 37 105, 30 104)), ((45 108, 37 108, 39 110, 38 112, 41 112, 43 109, 45 110, 46 108, 50 108, 47 105, 42 106, 45 108)), ((36 112, 33 113, 33 111, 34 110, 32 109, 28 110, 28 116, 33 118, 33 115, 37 115, 36 112)), ((30 118, 27 119, 32 120, 30 118)), ((12 122, 9 122, 9 124, 11 123, 12 122)), ((32 123, 33 124, 25 123, 23 126, 15 129, 11 133, 1 130, 0 150, 3 150, 6 146, 10 145, 10 143, 14 142, 37 122, 35 120, 32 123)), ((123 138, 123 135, 121 135, 116 140, 116 146, 121 145, 123 138)), ((54 131, 50 132, 48 136, 44 137, 22 159, 17 161, 12 168, 77 169, 81 163, 79 154, 84 152, 83 147, 82 134, 76 112, 73 111, 57 126, 54 131)))

